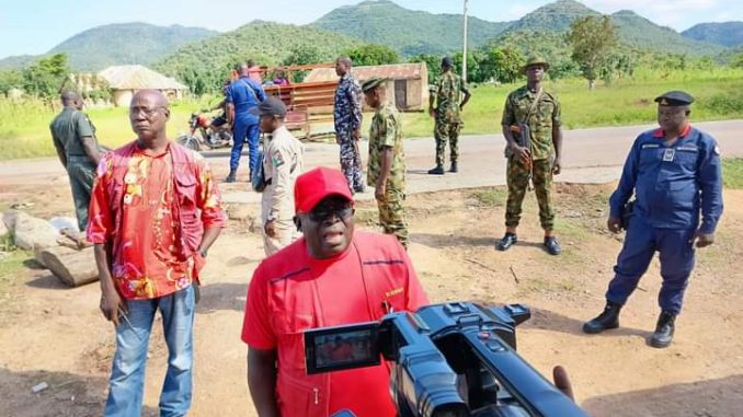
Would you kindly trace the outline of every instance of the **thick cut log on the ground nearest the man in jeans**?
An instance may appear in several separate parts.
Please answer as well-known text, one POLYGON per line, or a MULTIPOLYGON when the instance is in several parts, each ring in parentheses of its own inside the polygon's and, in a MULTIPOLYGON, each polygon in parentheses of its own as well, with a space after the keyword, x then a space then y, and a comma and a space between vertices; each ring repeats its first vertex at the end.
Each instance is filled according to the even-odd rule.
POLYGON ((39 252, 37 260, 69 287, 98 281, 98 266, 92 247, 82 251, 65 246, 49 247, 39 252))

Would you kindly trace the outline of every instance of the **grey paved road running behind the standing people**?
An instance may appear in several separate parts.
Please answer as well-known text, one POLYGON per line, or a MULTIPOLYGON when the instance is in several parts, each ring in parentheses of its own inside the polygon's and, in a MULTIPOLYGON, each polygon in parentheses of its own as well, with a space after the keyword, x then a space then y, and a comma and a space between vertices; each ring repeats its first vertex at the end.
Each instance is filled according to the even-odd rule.
MULTIPOLYGON (((743 120, 694 125, 718 139, 723 157, 743 157, 743 120)), ((639 132, 651 128, 653 125, 565 130, 563 173, 556 179, 569 183, 606 183, 618 178, 631 142, 639 132)), ((432 176, 426 171, 434 164, 433 138, 407 140, 408 193, 502 185, 505 183, 503 146, 504 139, 500 134, 462 137, 459 144, 459 173, 432 176)), ((367 154, 365 149, 363 154, 367 154)), ((217 174, 224 175, 227 171, 228 153, 213 152, 207 157, 217 174)), ((338 166, 338 147, 308 143, 305 160, 309 167, 338 166)), ((364 161, 366 162, 365 158, 364 161)), ((242 163, 247 163, 247 158, 243 158, 242 163)), ((43 184, 60 175, 64 172, 56 159, 0 163, 0 184, 3 185, 43 184)), ((255 193, 231 194, 236 200, 258 200, 255 193)))

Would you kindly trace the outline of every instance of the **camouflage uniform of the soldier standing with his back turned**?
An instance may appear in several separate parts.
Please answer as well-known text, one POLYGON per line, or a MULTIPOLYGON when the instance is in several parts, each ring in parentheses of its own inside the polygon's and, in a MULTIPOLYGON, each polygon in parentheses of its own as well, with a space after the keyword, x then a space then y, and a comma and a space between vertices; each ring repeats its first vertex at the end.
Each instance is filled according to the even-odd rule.
POLYGON ((436 166, 444 166, 446 140, 449 140, 450 160, 457 162, 459 158, 459 132, 465 124, 459 115, 460 92, 469 93, 461 77, 447 71, 442 74, 431 88, 431 94, 436 96, 436 124, 434 138, 436 139, 436 166))

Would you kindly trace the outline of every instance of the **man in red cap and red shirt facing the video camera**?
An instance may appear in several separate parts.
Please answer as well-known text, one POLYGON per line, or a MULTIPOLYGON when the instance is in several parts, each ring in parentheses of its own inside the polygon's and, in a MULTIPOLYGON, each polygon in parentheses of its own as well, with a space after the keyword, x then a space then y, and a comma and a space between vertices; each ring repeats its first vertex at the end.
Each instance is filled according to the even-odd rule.
POLYGON ((264 259, 248 290, 242 340, 260 416, 396 415, 389 369, 308 375, 304 332, 377 321, 427 303, 405 250, 392 235, 354 232, 343 174, 318 167, 297 178, 295 222, 304 238, 264 259))

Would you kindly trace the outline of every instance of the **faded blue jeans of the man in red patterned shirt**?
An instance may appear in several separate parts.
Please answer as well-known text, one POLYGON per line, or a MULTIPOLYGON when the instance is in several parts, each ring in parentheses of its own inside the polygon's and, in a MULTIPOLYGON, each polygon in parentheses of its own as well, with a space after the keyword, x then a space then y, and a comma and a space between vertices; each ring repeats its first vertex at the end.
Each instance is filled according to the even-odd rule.
POLYGON ((168 373, 160 393, 160 416, 185 416, 191 407, 193 377, 193 286, 151 300, 127 301, 128 313, 116 327, 116 355, 111 370, 105 416, 141 414, 147 345, 155 313, 162 314, 168 345, 168 373))

